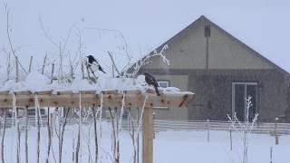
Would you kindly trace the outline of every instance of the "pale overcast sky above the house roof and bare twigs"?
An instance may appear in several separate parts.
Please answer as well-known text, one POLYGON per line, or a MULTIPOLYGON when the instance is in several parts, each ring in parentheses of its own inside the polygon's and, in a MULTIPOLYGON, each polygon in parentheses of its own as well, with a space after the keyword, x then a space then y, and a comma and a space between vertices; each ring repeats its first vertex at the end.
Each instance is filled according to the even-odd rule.
MULTIPOLYGON (((57 43, 66 37, 73 24, 81 30, 113 29, 126 37, 130 53, 140 56, 205 15, 290 72, 290 1, 287 0, 8 0, 7 3, 12 40, 14 46, 24 45, 18 55, 26 65, 32 54, 36 56, 35 62, 41 64, 44 53, 57 53, 43 34, 40 18, 57 43)), ((2 49, 9 47, 4 6, 0 7, 0 20, 0 56, 3 58, 2 49)), ((121 36, 116 33, 85 30, 82 39, 83 52, 104 61, 106 51, 116 54, 123 51, 121 36)), ((68 45, 72 49, 70 53, 75 52, 76 43, 73 29, 68 45)))

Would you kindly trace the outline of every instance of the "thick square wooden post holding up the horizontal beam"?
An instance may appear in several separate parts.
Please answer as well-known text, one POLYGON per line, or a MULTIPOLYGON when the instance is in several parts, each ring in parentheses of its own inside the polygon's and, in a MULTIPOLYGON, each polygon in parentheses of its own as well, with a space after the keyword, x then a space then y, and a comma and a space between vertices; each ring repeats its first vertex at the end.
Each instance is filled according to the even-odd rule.
POLYGON ((153 162, 153 111, 152 107, 144 109, 142 119, 142 163, 153 162))

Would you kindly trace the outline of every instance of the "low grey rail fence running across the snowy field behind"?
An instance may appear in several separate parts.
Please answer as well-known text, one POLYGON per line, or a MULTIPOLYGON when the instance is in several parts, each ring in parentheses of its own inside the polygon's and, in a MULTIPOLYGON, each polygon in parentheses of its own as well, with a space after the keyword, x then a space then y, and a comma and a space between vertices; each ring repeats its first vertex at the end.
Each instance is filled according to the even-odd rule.
MULTIPOLYGON (((21 127, 24 127, 26 119, 20 118, 21 127)), ((61 122, 63 122, 63 118, 61 122)), ((99 119, 98 119, 99 120, 99 119)), ((0 120, 0 128, 3 128, 4 120, 0 120)), ((111 122, 110 119, 102 119, 102 121, 111 122)), ((47 118, 42 118, 42 126, 46 126, 47 118)), ((79 122, 78 118, 68 118, 67 125, 73 125, 79 122)), ((93 123, 92 118, 82 119, 82 124, 93 123)), ((137 129, 137 121, 134 120, 134 129, 137 129)), ((30 127, 35 126, 35 119, 29 118, 28 125, 30 127)), ((165 130, 234 130, 228 121, 209 121, 209 120, 154 120, 153 129, 155 131, 165 131, 165 130)), ((10 128, 14 126, 14 119, 6 119, 6 127, 10 128)), ((239 125, 236 124, 235 127, 239 129, 239 125)), ((124 119, 121 120, 122 129, 131 129, 131 121, 124 119)), ((271 134, 271 135, 290 135, 290 123, 262 123, 258 122, 254 125, 252 133, 257 134, 271 134)))

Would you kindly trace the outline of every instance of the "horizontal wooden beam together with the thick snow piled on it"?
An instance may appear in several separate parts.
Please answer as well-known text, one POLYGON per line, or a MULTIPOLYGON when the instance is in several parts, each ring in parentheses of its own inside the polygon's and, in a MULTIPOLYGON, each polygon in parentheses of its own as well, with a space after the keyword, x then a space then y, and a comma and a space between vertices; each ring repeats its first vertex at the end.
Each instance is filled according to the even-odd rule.
POLYGON ((42 107, 82 107, 99 106, 103 97, 103 107, 121 107, 125 95, 126 107, 183 107, 189 104, 195 94, 179 91, 178 88, 160 88, 161 96, 145 83, 145 77, 137 79, 111 78, 100 76, 98 82, 76 78, 72 83, 53 82, 39 72, 30 72, 24 82, 7 81, 0 88, 0 108, 11 108, 13 97, 18 108, 34 107, 36 95, 42 107), (81 98, 80 98, 81 97, 81 98))

